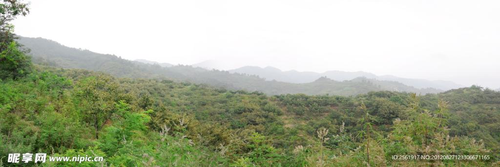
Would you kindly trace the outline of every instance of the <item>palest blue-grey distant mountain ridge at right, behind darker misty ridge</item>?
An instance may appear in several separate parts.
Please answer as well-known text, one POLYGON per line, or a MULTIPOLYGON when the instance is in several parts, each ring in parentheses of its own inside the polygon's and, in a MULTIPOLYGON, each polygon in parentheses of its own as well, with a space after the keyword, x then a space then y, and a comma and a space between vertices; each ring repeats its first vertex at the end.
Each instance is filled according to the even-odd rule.
POLYGON ((357 77, 366 77, 377 80, 387 80, 387 81, 397 81, 403 83, 408 86, 412 86, 417 89, 421 88, 436 88, 442 90, 450 90, 457 89, 461 87, 465 87, 463 85, 456 84, 451 81, 429 81, 425 79, 409 79, 409 78, 400 78, 392 75, 382 75, 377 76, 372 73, 357 71, 357 72, 344 72, 344 71, 326 71, 323 73, 316 72, 298 72, 295 70, 290 71, 281 71, 280 69, 267 66, 265 68, 256 67, 256 66, 244 66, 241 68, 229 70, 229 72, 234 73, 246 73, 250 75, 258 75, 266 80, 276 80, 281 82, 289 82, 289 83, 309 83, 315 81, 318 77, 326 76, 335 81, 344 81, 344 80, 352 80, 357 77))

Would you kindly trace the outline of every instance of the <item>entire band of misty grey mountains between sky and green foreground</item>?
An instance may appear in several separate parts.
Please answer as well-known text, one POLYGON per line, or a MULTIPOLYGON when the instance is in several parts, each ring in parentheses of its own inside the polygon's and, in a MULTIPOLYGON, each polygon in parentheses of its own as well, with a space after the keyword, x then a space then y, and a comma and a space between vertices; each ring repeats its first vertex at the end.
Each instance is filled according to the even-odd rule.
POLYGON ((31 49, 33 63, 62 68, 102 71, 116 77, 149 78, 210 84, 221 89, 263 92, 268 95, 357 95, 369 91, 439 93, 461 85, 449 81, 428 81, 367 72, 327 71, 324 73, 281 71, 274 67, 245 66, 234 70, 215 70, 216 61, 193 65, 172 65, 144 59, 126 60, 116 55, 95 53, 64 46, 58 42, 21 37, 19 43, 31 49), (403 83, 404 82, 404 83, 403 83))

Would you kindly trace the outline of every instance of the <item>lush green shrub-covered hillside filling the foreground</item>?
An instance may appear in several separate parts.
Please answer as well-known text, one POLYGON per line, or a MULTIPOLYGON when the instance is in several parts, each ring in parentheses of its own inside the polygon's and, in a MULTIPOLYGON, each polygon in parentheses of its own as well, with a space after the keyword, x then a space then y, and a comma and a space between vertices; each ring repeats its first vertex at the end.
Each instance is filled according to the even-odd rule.
POLYGON ((106 165, 99 166, 109 167, 489 166, 498 161, 390 160, 394 152, 498 151, 500 92, 475 85, 423 96, 392 91, 267 96, 81 69, 34 69, 22 79, 1 81, 0 157, 93 155, 105 158, 106 165))

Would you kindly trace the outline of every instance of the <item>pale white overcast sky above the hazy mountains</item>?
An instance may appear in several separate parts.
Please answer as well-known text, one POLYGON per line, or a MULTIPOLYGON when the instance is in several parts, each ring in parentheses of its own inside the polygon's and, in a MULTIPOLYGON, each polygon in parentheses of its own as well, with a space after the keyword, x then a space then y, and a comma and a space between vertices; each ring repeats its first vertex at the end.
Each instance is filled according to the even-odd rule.
POLYGON ((130 60, 500 88, 500 0, 30 1, 17 34, 130 60))

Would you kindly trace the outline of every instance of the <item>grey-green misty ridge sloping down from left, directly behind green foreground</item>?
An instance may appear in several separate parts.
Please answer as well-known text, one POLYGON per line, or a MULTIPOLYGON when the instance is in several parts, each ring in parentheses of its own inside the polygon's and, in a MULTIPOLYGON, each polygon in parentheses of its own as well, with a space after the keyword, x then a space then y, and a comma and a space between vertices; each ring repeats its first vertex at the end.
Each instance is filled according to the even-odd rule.
POLYGON ((116 77, 154 78, 158 80, 188 81, 206 83, 229 90, 260 91, 268 95, 303 93, 307 95, 357 95, 373 90, 399 92, 439 93, 442 90, 425 88, 416 89, 393 81, 355 78, 351 81, 334 81, 318 77, 316 81, 303 84, 265 81, 258 75, 232 73, 219 70, 205 70, 191 66, 177 65, 162 67, 158 64, 146 64, 129 61, 109 54, 99 54, 63 46, 55 41, 43 38, 21 37, 19 43, 31 49, 33 63, 63 68, 82 68, 103 71, 116 77), (362 82, 362 81, 365 82, 362 82), (369 81, 369 82, 368 82, 369 81))

